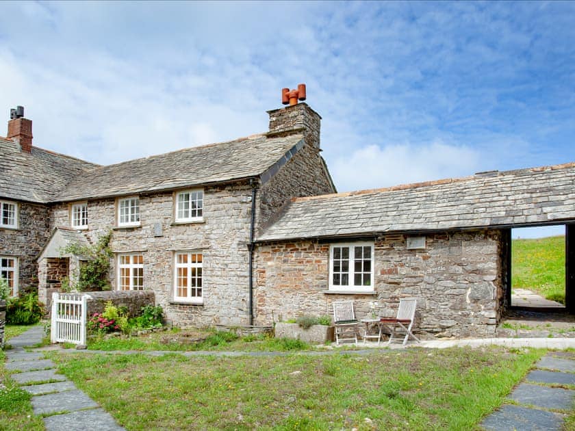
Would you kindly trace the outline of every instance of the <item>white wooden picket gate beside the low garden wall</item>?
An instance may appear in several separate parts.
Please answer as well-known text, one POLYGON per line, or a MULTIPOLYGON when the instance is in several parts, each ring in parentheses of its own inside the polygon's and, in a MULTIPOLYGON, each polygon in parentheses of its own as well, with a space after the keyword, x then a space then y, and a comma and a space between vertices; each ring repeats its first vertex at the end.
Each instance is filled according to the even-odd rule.
POLYGON ((52 343, 86 345, 86 295, 52 293, 52 343))

